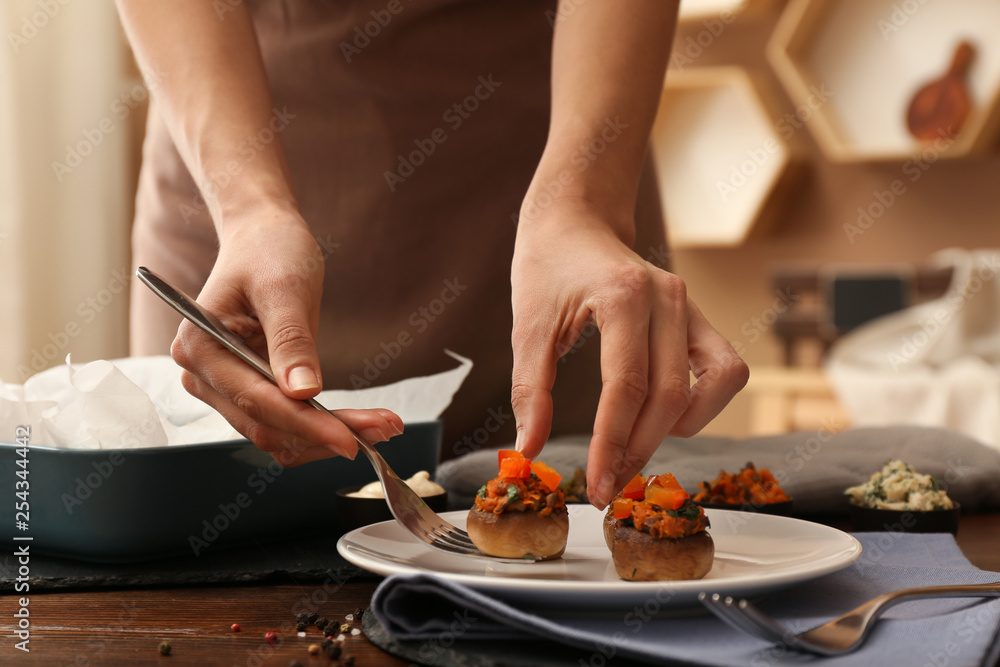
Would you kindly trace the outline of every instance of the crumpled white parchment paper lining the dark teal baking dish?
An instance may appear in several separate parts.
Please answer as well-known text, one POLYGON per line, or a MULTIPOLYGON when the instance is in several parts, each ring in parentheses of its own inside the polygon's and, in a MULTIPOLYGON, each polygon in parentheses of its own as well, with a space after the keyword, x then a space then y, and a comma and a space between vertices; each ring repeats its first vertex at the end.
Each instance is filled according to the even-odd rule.
MULTIPOLYGON (((318 400, 330 409, 388 408, 404 423, 437 419, 472 370, 450 371, 356 391, 330 390, 318 400)), ((122 449, 225 442, 241 436, 218 412, 181 386, 181 368, 168 356, 66 364, 23 384, 0 381, 0 441, 31 426, 31 443, 75 449, 122 449), (5 437, 4 434, 10 434, 5 437)))

